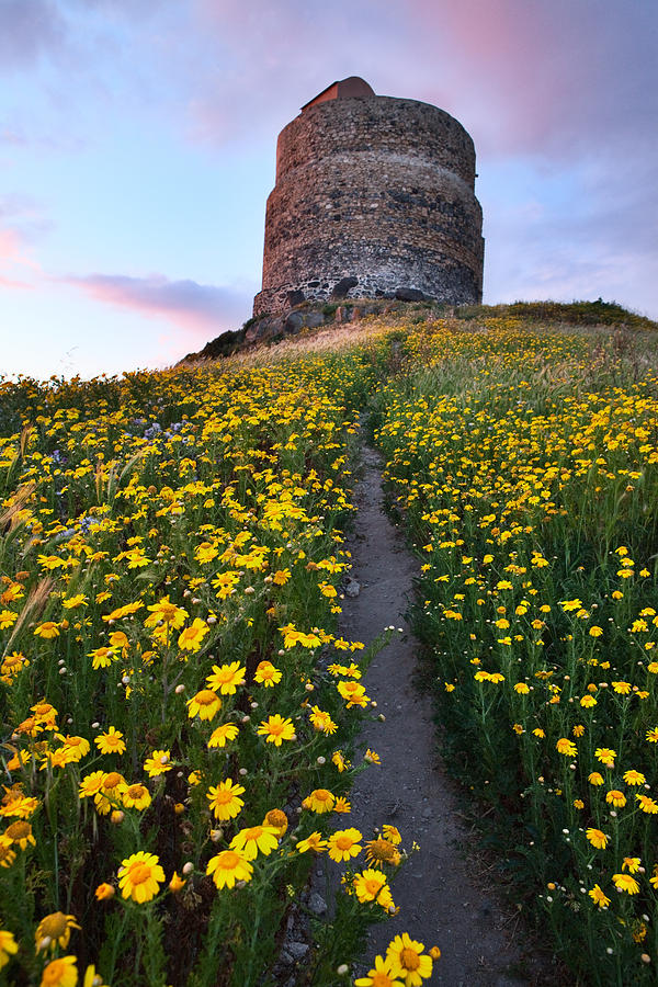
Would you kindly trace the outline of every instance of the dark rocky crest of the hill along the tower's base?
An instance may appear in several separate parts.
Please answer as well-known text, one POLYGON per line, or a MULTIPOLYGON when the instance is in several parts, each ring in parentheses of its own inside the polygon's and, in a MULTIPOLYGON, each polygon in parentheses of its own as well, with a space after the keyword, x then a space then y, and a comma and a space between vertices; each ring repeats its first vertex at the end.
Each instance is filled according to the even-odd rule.
POLYGON ((249 319, 240 329, 229 329, 211 340, 197 353, 188 353, 180 363, 218 360, 257 345, 275 345, 303 330, 313 330, 356 321, 368 315, 402 315, 409 318, 478 319, 513 316, 532 322, 571 326, 625 327, 633 330, 657 330, 658 322, 629 311, 616 302, 513 302, 509 305, 446 305, 430 300, 350 298, 327 304, 304 302, 284 315, 249 319))

